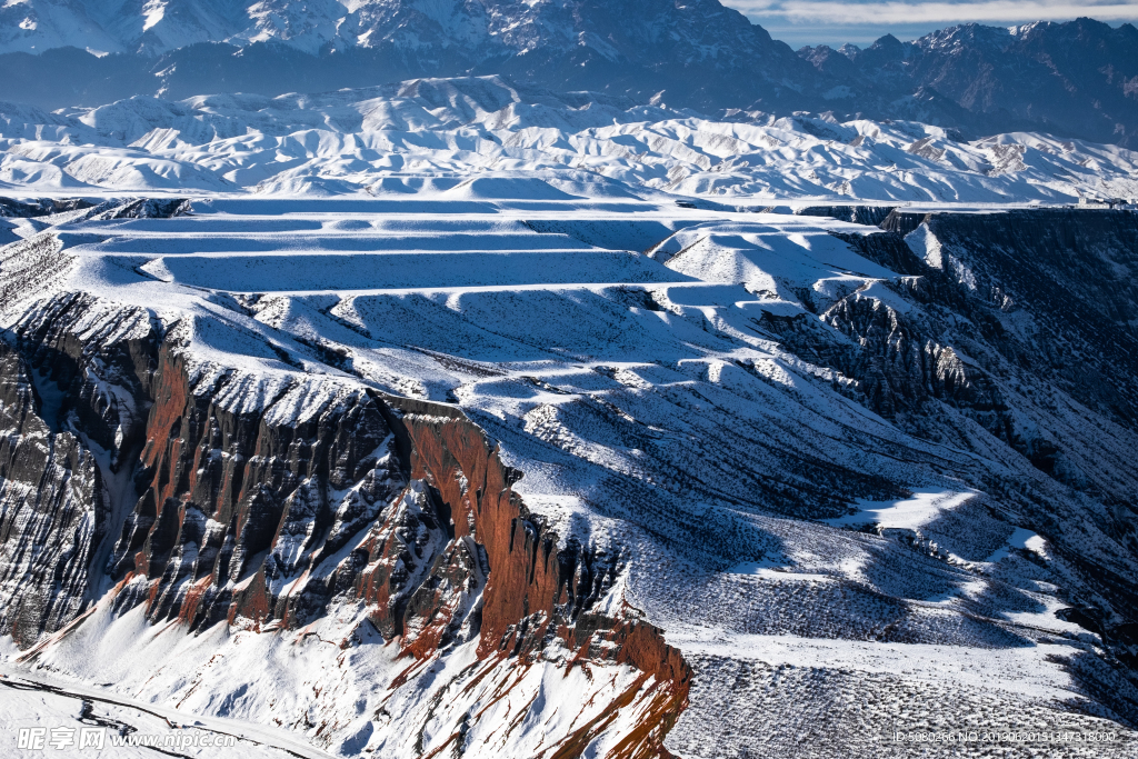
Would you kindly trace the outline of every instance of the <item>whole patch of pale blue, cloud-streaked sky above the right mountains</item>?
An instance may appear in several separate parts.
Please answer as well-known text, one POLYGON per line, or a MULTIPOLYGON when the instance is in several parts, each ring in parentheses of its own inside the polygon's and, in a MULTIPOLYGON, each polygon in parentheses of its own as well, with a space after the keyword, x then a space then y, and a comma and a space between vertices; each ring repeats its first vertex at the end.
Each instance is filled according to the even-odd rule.
POLYGON ((723 0, 795 50, 803 44, 865 47, 883 34, 912 40, 966 22, 1011 26, 1090 16, 1118 26, 1138 22, 1138 0, 723 0))

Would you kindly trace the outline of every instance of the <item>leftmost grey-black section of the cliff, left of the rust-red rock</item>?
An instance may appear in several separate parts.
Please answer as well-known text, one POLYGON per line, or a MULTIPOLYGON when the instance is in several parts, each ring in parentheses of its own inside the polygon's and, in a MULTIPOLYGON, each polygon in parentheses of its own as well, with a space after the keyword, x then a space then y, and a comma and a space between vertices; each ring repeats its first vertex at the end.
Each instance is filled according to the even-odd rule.
POLYGON ((64 297, 0 345, 0 624, 23 645, 74 620, 101 587, 118 485, 145 423, 149 317, 124 310, 84 341, 75 330, 86 305, 64 297), (133 337, 104 341, 116 332, 133 337))

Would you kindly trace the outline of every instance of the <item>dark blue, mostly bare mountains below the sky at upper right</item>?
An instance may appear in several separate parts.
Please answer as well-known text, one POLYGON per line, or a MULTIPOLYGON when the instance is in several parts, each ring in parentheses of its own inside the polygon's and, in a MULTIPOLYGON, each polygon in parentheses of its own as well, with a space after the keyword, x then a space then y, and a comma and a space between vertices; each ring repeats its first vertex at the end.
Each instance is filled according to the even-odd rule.
MULTIPOLYGON (((803 48, 799 55, 860 97, 932 90, 970 122, 1029 127, 1135 147, 1138 30, 1090 18, 1011 28, 967 24, 908 43, 883 36, 860 50, 803 48), (1030 125, 1030 126, 1029 126, 1030 125)), ((920 121, 920 117, 918 117, 920 121)))

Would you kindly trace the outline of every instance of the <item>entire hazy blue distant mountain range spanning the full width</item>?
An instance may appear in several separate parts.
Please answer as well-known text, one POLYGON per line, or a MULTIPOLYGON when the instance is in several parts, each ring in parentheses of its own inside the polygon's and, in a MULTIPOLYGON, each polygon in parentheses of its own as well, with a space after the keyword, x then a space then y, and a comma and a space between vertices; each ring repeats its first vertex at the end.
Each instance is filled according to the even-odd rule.
POLYGON ((0 8, 0 98, 49 108, 495 74, 704 114, 1138 140, 1138 30, 1089 18, 795 52, 718 0, 27 0, 0 8))

